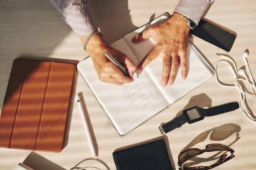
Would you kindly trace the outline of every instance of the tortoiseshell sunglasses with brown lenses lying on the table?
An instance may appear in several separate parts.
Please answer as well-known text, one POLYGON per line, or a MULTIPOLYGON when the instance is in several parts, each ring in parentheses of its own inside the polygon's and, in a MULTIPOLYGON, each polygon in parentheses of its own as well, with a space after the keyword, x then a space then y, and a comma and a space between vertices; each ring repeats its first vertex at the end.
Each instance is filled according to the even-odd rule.
POLYGON ((228 146, 223 145, 223 144, 208 144, 207 146, 205 146, 205 149, 203 149, 203 150, 198 149, 198 148, 190 148, 190 149, 180 152, 180 154, 178 156, 178 165, 180 166, 179 170, 195 170, 195 169, 209 170, 211 168, 219 166, 220 164, 222 164, 234 157, 235 157, 234 150, 229 148, 228 146), (231 152, 231 155, 229 157, 227 157, 226 152, 223 153, 220 156, 220 159, 218 159, 218 161, 216 163, 213 163, 210 166, 182 167, 182 164, 184 162, 188 161, 189 159, 196 157, 204 152, 213 152, 213 151, 229 151, 229 152, 231 152))

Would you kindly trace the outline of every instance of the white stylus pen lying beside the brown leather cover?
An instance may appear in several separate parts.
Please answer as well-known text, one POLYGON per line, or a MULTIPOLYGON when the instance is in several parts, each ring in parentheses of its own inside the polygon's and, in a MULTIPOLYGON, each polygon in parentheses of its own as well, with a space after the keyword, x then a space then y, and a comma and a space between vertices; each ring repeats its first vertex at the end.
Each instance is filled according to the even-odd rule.
POLYGON ((91 151, 92 151, 92 155, 96 159, 95 149, 94 149, 94 146, 93 146, 93 143, 92 143, 92 137, 91 137, 90 132, 89 132, 88 124, 87 124, 86 119, 85 119, 85 115, 84 115, 84 112, 83 112, 83 107, 82 107, 82 104, 80 102, 79 95, 76 95, 76 101, 77 101, 77 104, 78 104, 78 107, 79 107, 79 111, 81 113, 81 117, 82 117, 82 120, 83 120, 83 126, 85 128, 86 136, 87 136, 88 141, 89 141, 89 145, 90 145, 90 148, 91 148, 91 151))

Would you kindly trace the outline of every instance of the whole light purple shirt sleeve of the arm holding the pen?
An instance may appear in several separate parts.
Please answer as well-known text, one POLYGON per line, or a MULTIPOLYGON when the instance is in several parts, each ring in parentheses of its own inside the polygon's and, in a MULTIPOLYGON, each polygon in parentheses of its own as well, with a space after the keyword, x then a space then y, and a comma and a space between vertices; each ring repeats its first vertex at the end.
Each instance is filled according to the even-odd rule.
POLYGON ((98 29, 90 8, 90 0, 51 0, 51 2, 61 14, 61 19, 75 31, 78 37, 98 29))

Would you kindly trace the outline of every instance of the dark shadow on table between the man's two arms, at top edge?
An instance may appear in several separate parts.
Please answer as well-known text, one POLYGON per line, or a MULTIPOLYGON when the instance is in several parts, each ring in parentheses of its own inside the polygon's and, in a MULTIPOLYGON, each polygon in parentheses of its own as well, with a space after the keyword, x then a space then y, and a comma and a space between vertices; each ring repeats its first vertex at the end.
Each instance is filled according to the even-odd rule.
POLYGON ((132 23, 128 0, 93 0, 90 6, 97 26, 110 44, 138 28, 132 23))

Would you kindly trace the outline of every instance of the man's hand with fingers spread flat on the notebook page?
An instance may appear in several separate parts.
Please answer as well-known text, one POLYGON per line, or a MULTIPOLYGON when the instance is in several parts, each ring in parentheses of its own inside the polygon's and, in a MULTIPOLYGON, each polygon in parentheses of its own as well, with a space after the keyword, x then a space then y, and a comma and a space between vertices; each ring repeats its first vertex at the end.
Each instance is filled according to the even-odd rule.
POLYGON ((172 85, 180 62, 181 78, 187 76, 186 50, 189 41, 189 28, 187 20, 178 13, 173 13, 171 18, 163 24, 152 26, 139 33, 132 42, 153 38, 155 47, 137 66, 136 72, 141 72, 156 57, 163 60, 163 73, 161 85, 172 85))

